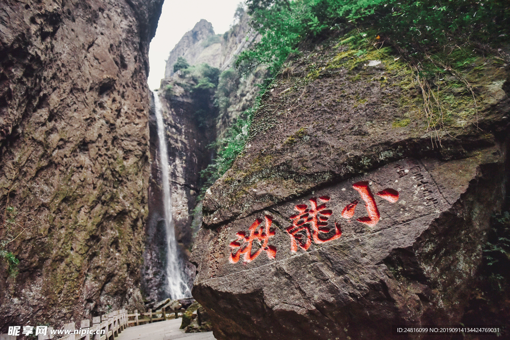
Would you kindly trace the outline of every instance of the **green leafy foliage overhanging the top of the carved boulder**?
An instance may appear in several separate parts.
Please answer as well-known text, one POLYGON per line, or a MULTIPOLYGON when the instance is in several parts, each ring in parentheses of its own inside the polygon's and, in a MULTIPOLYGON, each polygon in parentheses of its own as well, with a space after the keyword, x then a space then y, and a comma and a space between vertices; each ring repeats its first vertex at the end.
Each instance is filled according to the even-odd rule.
POLYGON ((440 49, 451 40, 497 44, 508 40, 508 0, 247 0, 262 39, 237 66, 269 65, 273 75, 298 44, 347 25, 371 25, 407 55, 440 49))

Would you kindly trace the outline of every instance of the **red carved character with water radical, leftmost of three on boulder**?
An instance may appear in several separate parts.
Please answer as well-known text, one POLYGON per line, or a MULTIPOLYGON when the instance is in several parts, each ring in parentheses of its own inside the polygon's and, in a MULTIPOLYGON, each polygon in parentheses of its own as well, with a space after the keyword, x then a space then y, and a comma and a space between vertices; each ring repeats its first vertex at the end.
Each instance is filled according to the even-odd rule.
POLYGON ((266 251, 269 259, 274 259, 276 247, 268 245, 269 237, 275 234, 275 232, 271 230, 273 218, 269 215, 266 215, 264 218, 266 220, 265 226, 260 226, 263 222, 262 218, 257 218, 257 220, 251 224, 249 236, 246 236, 245 232, 236 233, 238 239, 231 242, 230 247, 231 249, 238 249, 234 253, 231 252, 229 259, 231 263, 237 263, 242 254, 244 254, 244 262, 251 262, 256 259, 262 251, 266 251), (256 252, 251 253, 253 242, 258 243, 260 248, 256 252))

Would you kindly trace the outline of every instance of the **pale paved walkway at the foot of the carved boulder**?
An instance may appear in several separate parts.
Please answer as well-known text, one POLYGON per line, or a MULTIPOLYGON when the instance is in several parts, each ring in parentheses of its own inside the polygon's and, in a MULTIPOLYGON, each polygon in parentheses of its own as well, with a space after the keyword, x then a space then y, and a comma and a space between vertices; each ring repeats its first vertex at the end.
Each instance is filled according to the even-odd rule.
POLYGON ((179 329, 182 319, 167 320, 141 326, 127 327, 115 340, 215 340, 213 332, 184 333, 179 329))

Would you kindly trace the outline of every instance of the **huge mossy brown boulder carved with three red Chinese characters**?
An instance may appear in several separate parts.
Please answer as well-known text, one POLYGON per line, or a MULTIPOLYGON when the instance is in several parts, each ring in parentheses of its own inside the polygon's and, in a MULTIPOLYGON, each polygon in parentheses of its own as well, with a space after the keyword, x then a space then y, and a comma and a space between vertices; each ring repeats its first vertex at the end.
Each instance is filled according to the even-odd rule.
POLYGON ((469 65, 476 109, 444 90, 454 114, 431 131, 407 65, 373 46, 350 58, 343 39, 291 61, 206 193, 192 292, 217 339, 394 339, 462 319, 507 194, 508 65, 469 65))

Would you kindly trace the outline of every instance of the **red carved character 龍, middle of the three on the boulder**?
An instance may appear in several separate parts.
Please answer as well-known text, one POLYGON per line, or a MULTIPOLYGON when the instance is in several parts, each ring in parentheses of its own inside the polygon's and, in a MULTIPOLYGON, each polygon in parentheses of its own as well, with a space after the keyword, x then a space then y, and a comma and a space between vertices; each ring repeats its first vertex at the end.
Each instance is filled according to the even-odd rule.
MULTIPOLYGON (((337 223, 335 223, 335 234, 328 236, 331 230, 327 227, 327 220, 332 212, 326 209, 326 204, 323 203, 318 206, 315 197, 312 197, 309 201, 311 208, 304 204, 298 204, 294 209, 299 213, 290 216, 292 225, 287 228, 287 233, 290 235, 290 248, 292 251, 297 251, 298 244, 301 248, 307 250, 312 244, 312 239, 318 244, 332 241, 342 236, 342 230, 337 223)), ((319 197, 319 201, 327 202, 329 197, 319 197)))

